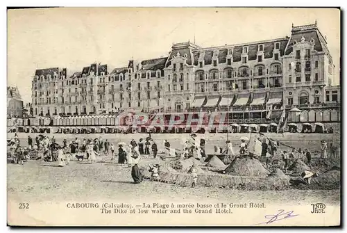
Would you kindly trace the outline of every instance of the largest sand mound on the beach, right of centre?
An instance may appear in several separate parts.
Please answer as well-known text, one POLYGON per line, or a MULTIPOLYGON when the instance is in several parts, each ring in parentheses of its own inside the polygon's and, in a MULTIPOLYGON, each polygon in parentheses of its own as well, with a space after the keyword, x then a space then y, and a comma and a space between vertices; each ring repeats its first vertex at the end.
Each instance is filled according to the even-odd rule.
POLYGON ((232 175, 250 177, 262 177, 269 175, 269 171, 264 168, 259 160, 248 157, 234 159, 224 171, 232 175))

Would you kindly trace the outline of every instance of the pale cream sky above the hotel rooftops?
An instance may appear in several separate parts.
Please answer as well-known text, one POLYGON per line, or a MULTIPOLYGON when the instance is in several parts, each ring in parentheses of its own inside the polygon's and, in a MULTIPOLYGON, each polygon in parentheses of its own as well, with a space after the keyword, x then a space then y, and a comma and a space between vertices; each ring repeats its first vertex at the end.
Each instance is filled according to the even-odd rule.
MULTIPOLYGON (((201 47, 290 36, 315 20, 335 63, 339 84, 340 15, 326 8, 45 8, 8 10, 8 86, 31 101, 36 69, 108 69, 130 59, 167 56, 173 42, 201 47)), ((70 70, 70 72, 69 72, 70 70)))

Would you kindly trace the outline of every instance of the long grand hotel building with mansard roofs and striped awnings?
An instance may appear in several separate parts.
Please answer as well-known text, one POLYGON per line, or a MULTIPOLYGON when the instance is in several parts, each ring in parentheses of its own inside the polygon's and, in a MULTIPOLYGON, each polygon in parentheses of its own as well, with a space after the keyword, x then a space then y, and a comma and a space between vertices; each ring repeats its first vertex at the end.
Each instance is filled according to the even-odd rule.
MULTIPOLYGON (((121 110, 162 112, 321 109, 338 106, 335 65, 316 23, 284 38, 201 48, 174 44, 169 56, 108 70, 94 63, 36 70, 33 114, 90 115, 121 110), (331 90, 330 90, 331 89, 331 90)), ((264 113, 265 111, 265 113, 264 113)), ((248 115, 253 118, 253 115, 248 115)))

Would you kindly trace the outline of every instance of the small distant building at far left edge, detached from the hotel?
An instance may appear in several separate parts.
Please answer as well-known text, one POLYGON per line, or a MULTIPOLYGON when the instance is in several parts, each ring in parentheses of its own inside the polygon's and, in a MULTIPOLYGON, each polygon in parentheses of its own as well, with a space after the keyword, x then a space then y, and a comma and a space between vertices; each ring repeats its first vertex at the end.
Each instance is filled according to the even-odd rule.
POLYGON ((17 87, 7 87, 7 115, 19 118, 23 116, 23 100, 17 87))

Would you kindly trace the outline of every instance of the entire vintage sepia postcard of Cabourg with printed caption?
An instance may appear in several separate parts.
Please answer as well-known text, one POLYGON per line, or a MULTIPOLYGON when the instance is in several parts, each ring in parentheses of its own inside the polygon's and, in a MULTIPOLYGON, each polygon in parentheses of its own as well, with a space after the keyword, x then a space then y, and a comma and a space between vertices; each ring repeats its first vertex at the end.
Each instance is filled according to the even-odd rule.
POLYGON ((339 8, 8 10, 10 226, 339 226, 339 8))

